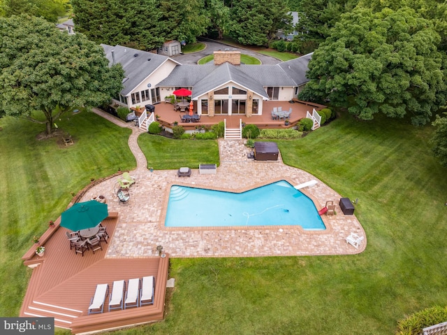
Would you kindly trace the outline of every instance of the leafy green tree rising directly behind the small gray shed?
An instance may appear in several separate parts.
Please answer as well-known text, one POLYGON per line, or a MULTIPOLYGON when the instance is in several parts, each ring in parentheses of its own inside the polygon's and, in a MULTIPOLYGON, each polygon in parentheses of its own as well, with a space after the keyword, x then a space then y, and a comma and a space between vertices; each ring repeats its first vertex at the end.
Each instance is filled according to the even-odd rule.
POLYGON ((204 0, 161 0, 160 8, 166 39, 194 43, 210 25, 204 0))

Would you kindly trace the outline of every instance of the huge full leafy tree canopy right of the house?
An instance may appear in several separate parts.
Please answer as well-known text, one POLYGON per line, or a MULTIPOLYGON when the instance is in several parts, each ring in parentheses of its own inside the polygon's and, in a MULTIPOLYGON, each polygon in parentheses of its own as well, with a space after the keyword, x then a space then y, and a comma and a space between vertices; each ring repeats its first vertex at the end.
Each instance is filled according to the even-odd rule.
POLYGON ((329 99, 363 120, 409 113, 413 124, 425 124, 446 102, 440 41, 409 8, 353 10, 314 52, 300 98, 329 99))

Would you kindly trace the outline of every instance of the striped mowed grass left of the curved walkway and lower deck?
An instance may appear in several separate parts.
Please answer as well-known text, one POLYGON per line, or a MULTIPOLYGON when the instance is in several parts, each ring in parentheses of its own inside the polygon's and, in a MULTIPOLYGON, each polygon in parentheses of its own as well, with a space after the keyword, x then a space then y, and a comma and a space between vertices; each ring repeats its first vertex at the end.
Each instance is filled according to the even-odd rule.
POLYGON ((44 130, 12 117, 0 119, 0 315, 16 316, 31 271, 20 257, 33 245, 34 235, 47 229, 91 178, 135 169, 121 129, 94 113, 82 112, 57 120, 75 145, 60 147, 57 138, 37 141, 44 130))

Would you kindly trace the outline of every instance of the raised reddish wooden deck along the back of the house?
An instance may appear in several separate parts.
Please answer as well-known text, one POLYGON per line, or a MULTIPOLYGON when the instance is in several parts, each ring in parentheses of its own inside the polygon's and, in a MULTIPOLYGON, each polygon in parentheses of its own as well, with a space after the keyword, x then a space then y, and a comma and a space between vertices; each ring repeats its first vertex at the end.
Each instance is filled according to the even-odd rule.
MULTIPOLYGON (((161 102, 155 105, 155 114, 160 116, 159 122, 161 125, 166 127, 173 127, 173 122, 177 121, 178 124, 184 127, 185 130, 195 129, 196 126, 212 126, 223 120, 226 120, 226 125, 228 128, 239 127, 239 122, 246 124, 256 124, 259 128, 274 128, 274 129, 286 129, 294 127, 302 118, 306 117, 306 112, 309 111, 312 114, 313 108, 316 111, 325 108, 323 105, 305 103, 305 101, 295 102, 294 104, 288 101, 264 101, 263 102, 263 115, 252 115, 247 117, 242 114, 238 115, 214 115, 214 117, 209 117, 206 115, 200 116, 200 122, 181 122, 182 115, 185 112, 176 112, 172 104, 161 102), (271 111, 274 107, 281 107, 283 111, 288 111, 292 108, 291 117, 289 117, 290 124, 286 126, 284 120, 272 120, 271 111)), ((196 106, 194 106, 194 111, 197 111, 196 106)))

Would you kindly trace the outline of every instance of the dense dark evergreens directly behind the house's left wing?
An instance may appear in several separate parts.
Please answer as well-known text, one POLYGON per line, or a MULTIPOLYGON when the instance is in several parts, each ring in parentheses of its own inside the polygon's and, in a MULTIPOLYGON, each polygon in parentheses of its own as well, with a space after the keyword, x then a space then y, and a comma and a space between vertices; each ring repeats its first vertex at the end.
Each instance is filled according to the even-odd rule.
POLYGON ((91 41, 153 50, 165 41, 156 0, 72 0, 76 31, 91 41))

